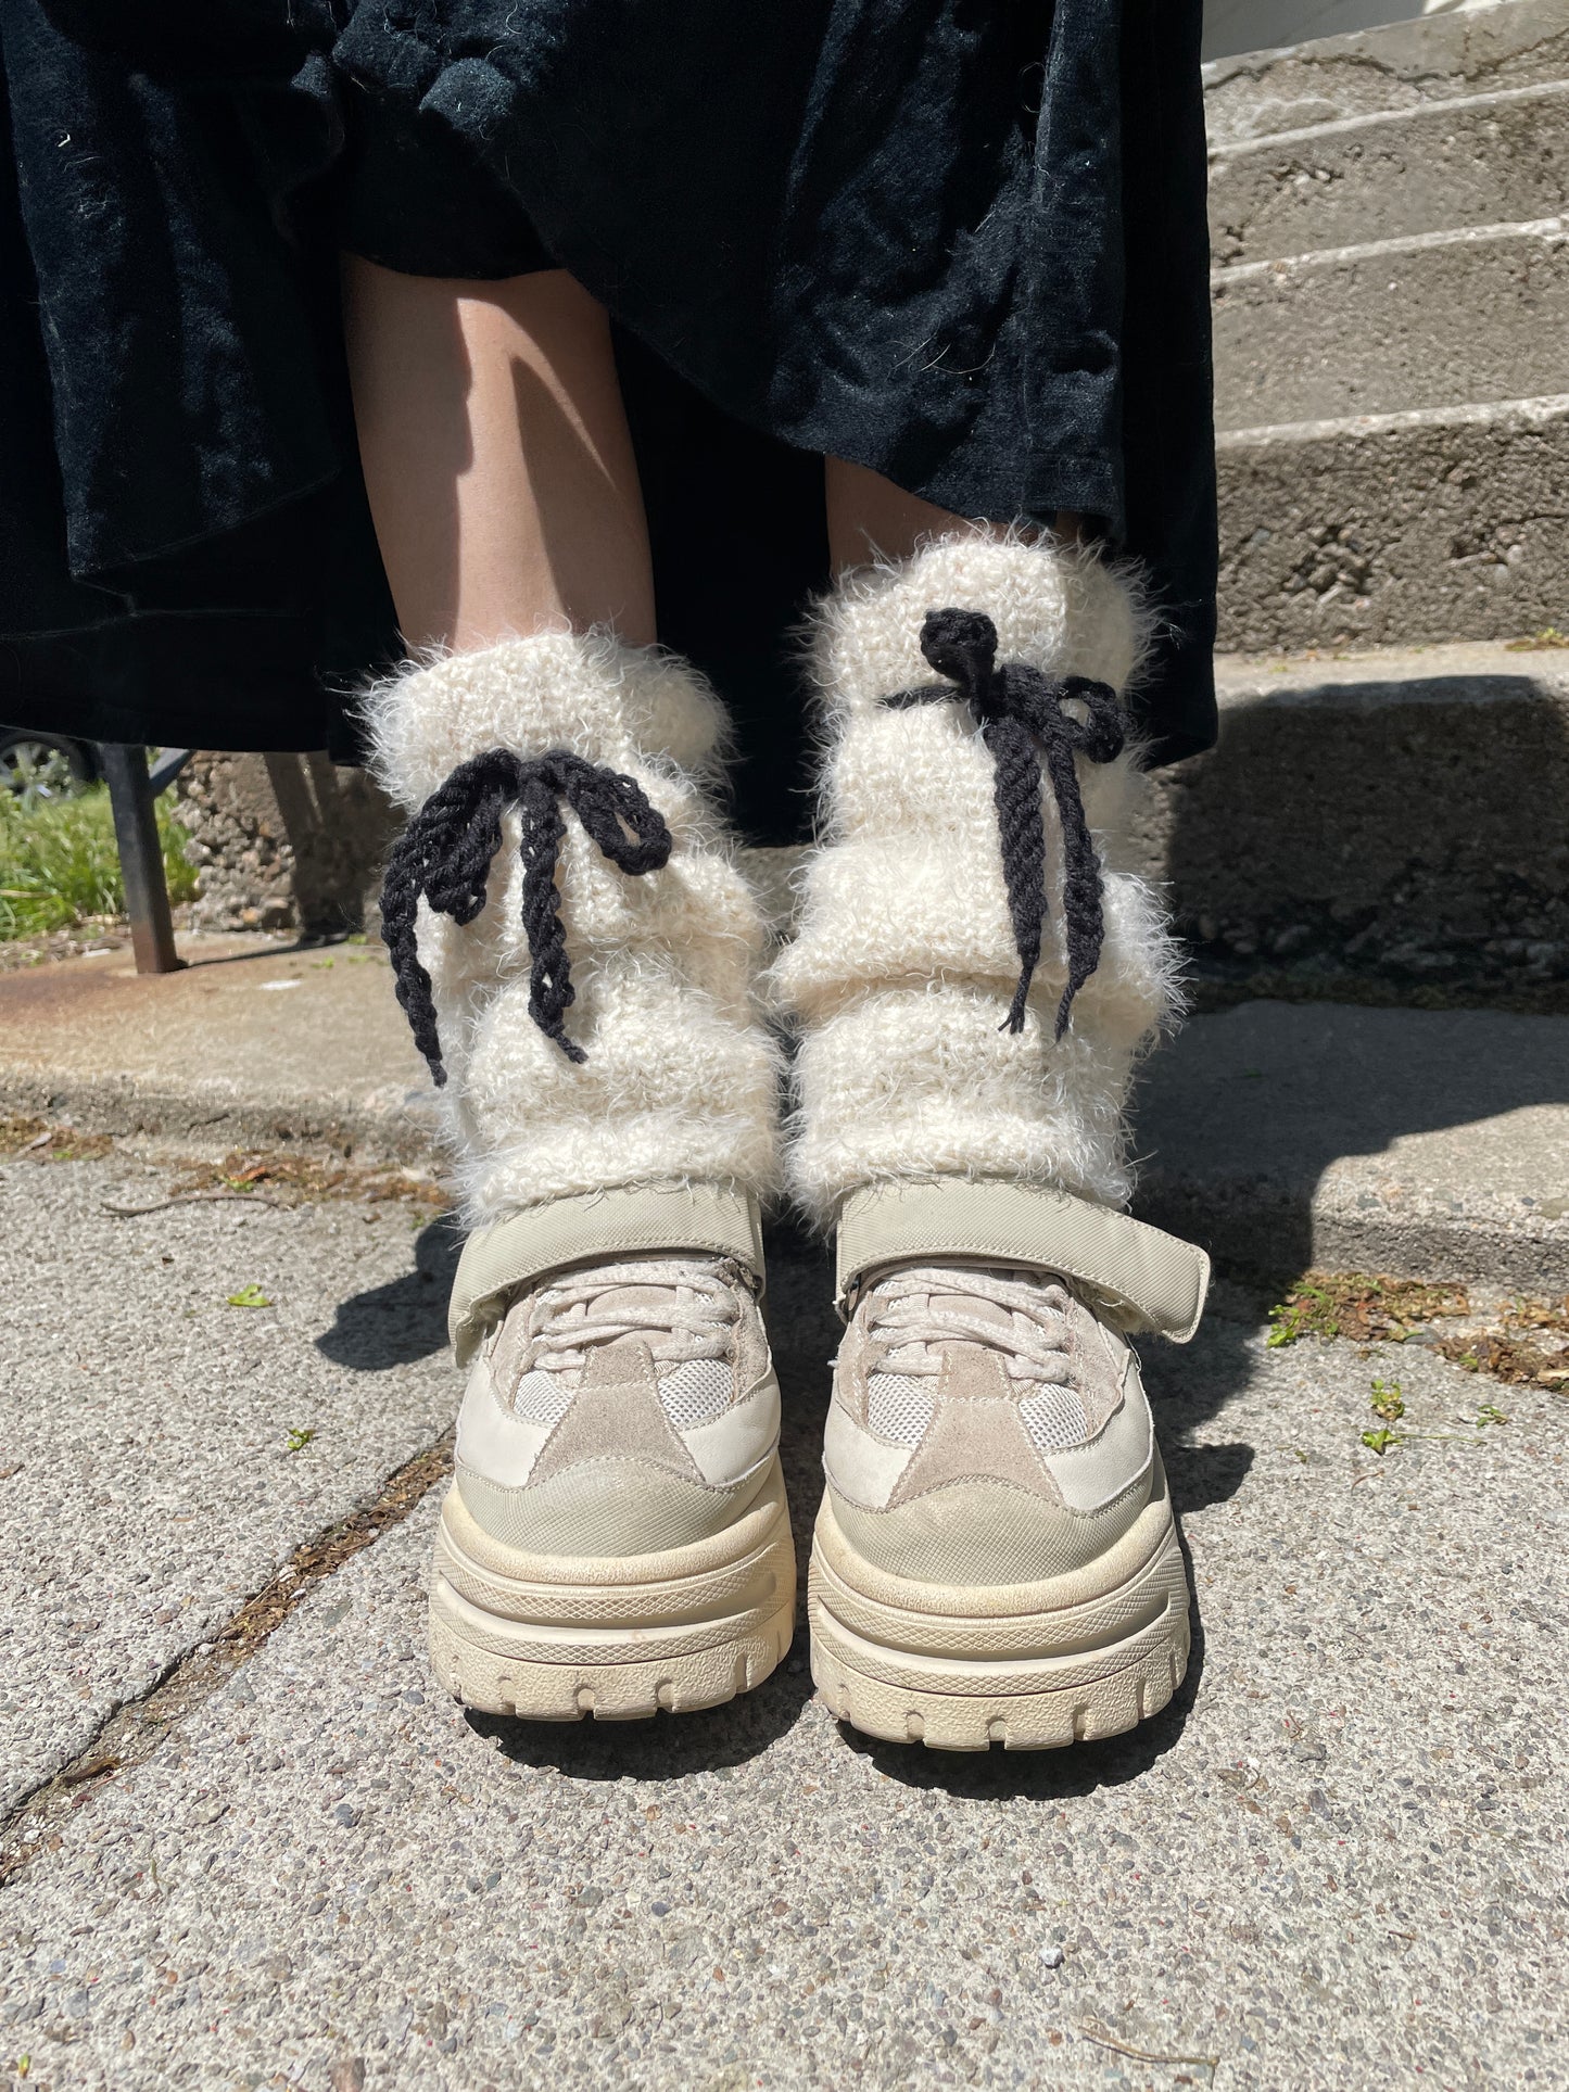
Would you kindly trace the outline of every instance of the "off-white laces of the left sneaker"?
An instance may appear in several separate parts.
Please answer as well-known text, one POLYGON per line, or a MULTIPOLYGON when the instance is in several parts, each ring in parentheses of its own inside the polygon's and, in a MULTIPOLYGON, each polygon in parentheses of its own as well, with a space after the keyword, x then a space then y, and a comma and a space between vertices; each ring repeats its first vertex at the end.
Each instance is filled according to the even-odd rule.
POLYGON ((665 1366, 728 1358, 736 1324, 736 1276, 720 1264, 638 1259, 598 1264, 542 1287, 529 1303, 525 1370, 575 1370, 596 1345, 642 1337, 665 1366), (636 1303, 607 1295, 638 1289, 636 1303))

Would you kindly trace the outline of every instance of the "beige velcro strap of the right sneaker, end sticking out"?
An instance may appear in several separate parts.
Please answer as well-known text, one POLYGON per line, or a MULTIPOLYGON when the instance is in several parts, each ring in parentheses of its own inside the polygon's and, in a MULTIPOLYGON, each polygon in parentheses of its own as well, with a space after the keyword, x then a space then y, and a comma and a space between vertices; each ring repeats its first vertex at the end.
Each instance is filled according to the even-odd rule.
POLYGON ((893 1264, 964 1261, 1033 1266, 1086 1289, 1121 1331, 1153 1328, 1186 1343, 1209 1291, 1209 1257, 1128 1213, 1069 1192, 996 1178, 870 1184, 839 1218, 839 1308, 862 1280, 893 1264))

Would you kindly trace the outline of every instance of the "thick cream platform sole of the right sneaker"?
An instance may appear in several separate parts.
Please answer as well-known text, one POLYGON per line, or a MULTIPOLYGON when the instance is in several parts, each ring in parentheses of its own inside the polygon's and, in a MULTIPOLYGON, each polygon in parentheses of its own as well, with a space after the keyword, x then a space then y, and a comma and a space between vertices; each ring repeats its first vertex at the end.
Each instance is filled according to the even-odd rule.
POLYGON ((1098 1561, 1040 1584, 914 1584, 849 1546, 824 1498, 808 1577, 812 1680, 851 1728, 933 1751, 1117 1736, 1188 1667, 1188 1579, 1165 1490, 1098 1561))

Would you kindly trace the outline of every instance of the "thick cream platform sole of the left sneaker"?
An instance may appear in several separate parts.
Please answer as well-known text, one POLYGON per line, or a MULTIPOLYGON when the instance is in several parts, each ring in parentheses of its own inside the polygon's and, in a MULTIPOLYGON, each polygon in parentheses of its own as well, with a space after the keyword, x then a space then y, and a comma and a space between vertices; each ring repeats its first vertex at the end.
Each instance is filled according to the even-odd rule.
POLYGON ((657 1554, 525 1554, 441 1506, 431 1665, 483 1713, 529 1722, 646 1720, 718 1707, 791 1646, 795 1546, 784 1479, 722 1533, 657 1554))

